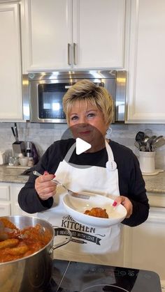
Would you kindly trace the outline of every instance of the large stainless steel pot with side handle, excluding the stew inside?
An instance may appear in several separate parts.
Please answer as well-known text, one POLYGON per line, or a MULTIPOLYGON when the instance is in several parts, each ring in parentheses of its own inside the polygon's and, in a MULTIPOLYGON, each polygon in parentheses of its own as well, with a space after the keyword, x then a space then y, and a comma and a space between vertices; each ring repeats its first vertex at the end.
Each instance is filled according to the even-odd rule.
POLYGON ((71 240, 71 231, 66 228, 52 226, 48 221, 29 216, 6 216, 17 228, 41 224, 52 234, 48 245, 31 256, 0 263, 0 291, 1 292, 38 292, 48 291, 48 284, 52 275, 52 251, 66 245, 71 240), (61 243, 53 244, 55 229, 64 229, 69 238, 61 243))

